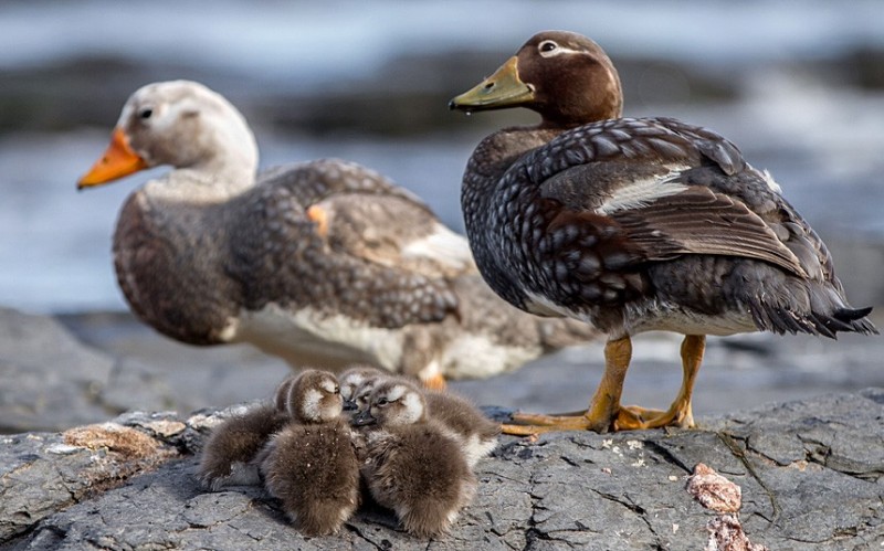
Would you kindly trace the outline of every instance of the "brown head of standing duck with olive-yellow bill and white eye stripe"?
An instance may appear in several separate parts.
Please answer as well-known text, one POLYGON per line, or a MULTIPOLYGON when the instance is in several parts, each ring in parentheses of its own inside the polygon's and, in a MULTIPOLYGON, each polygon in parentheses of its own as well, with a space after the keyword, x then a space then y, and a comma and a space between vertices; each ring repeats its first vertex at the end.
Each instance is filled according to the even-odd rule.
POLYGON ((540 114, 541 126, 572 127, 619 118, 623 93, 598 44, 573 32, 544 31, 449 107, 467 113, 526 107, 540 114))

